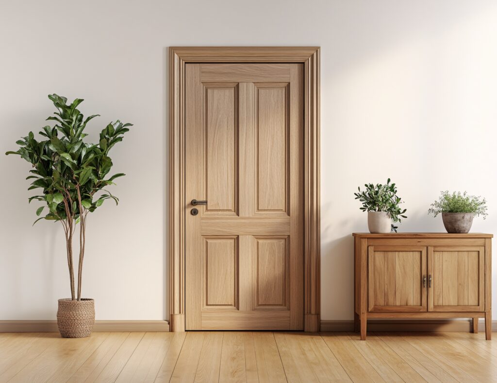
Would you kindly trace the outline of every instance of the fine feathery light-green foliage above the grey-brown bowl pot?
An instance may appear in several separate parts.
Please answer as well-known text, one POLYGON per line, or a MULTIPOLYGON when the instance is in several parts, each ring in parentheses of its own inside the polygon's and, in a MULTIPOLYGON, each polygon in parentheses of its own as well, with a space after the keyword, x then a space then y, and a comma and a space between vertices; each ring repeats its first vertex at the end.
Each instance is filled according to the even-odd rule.
POLYGON ((474 213, 475 217, 482 215, 483 219, 487 218, 487 200, 481 199, 481 196, 468 195, 465 191, 449 193, 441 191, 438 200, 431 204, 428 214, 436 217, 440 213, 474 213))

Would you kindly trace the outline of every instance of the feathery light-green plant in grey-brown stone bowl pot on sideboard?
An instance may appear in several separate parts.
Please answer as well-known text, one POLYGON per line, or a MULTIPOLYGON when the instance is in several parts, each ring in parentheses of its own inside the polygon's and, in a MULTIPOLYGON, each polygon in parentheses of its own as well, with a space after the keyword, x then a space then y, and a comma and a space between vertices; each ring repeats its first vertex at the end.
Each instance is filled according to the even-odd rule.
POLYGON ((449 193, 441 191, 438 200, 431 204, 428 214, 436 217, 442 213, 442 221, 447 233, 469 233, 473 218, 479 215, 487 218, 487 200, 480 196, 468 195, 465 191, 449 193))

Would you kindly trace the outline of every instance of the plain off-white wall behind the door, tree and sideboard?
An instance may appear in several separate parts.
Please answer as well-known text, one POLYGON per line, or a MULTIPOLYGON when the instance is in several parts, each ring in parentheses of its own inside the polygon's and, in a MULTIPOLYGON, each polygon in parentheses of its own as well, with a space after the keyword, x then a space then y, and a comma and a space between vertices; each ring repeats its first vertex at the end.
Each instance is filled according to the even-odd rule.
MULTIPOLYGON (((319 45, 322 319, 351 319, 358 185, 397 183, 402 231, 443 231, 426 214, 440 190, 482 194, 473 231, 497 232, 496 19, 493 0, 4 1, 0 152, 45 125, 54 92, 101 114, 94 135, 135 124, 113 155, 121 203, 88 219, 83 295, 97 319, 165 319, 166 47, 319 45)), ((61 228, 31 227, 28 170, 1 155, 0 319, 54 319, 69 294, 61 228)))

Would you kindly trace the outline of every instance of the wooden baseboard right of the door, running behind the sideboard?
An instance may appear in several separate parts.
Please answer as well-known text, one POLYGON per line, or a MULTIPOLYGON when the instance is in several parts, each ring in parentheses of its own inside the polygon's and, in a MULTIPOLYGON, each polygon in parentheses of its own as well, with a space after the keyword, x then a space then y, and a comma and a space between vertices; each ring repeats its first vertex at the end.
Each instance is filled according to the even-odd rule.
MULTIPOLYGON (((471 331, 471 320, 450 319, 370 319, 368 320, 368 331, 471 331)), ((354 331, 353 320, 322 320, 321 331, 323 332, 351 332, 354 331)), ((485 332, 485 321, 478 322, 478 331, 485 332)), ((492 331, 497 331, 497 320, 492 321, 492 331)))

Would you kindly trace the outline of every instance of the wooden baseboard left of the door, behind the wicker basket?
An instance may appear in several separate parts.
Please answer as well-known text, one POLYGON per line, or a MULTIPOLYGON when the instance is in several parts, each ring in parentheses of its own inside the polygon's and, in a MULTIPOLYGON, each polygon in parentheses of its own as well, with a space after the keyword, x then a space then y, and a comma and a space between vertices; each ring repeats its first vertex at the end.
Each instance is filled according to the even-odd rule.
MULTIPOLYGON (((0 332, 58 332, 56 320, 0 320, 0 332)), ((96 320, 95 332, 168 332, 166 320, 96 320)))

